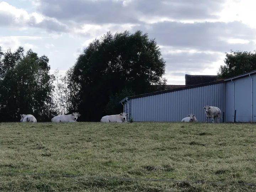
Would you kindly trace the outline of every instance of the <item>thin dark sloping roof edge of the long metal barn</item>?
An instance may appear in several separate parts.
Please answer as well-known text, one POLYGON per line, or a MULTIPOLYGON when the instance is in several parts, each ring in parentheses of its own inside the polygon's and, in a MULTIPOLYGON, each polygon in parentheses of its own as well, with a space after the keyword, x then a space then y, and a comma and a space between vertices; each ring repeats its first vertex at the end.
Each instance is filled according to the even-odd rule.
MULTIPOLYGON (((179 88, 175 88, 175 89, 169 89, 169 90, 164 90, 164 91, 156 91, 156 92, 152 92, 152 93, 148 93, 148 94, 140 94, 140 95, 129 96, 129 97, 123 98, 123 100, 120 101, 119 103, 125 101, 126 99, 148 97, 148 96, 152 96, 152 95, 159 95, 159 94, 165 94, 165 93, 174 92, 174 91, 180 91, 180 90, 192 89, 192 88, 196 88, 196 87, 203 87, 203 86, 208 86, 208 85, 219 84, 219 83, 223 83, 224 81, 229 81, 231 79, 239 79, 239 78, 242 78, 246 75, 255 74, 255 73, 256 73, 256 70, 250 71, 248 73, 244 73, 244 74, 241 74, 241 75, 237 75, 237 76, 234 76, 234 77, 229 78, 229 79, 215 78, 215 81, 204 82, 204 83, 197 84, 197 85, 185 85, 184 87, 179 87, 179 88)), ((193 76, 196 76, 196 75, 193 75, 193 76)), ((214 75, 198 75, 198 76, 214 76, 214 75)))

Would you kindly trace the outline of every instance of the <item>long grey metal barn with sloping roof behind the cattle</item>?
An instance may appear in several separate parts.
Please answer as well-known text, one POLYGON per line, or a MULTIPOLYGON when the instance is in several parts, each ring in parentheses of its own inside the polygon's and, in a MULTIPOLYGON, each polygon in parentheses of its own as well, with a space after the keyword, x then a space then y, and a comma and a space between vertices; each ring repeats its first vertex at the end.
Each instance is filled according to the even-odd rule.
POLYGON ((256 80, 256 70, 221 81, 129 96, 120 103, 129 114, 128 120, 133 117, 135 122, 179 122, 190 113, 205 122, 206 105, 219 107, 222 116, 224 112, 224 122, 256 122, 253 79, 256 80))

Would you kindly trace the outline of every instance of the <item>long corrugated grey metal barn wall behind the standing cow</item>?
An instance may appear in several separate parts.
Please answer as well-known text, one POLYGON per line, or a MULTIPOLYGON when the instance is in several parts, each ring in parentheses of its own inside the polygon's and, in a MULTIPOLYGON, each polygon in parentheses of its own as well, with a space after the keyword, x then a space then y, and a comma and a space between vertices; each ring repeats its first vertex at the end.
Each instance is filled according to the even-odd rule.
POLYGON ((203 109, 206 105, 225 111, 225 83, 134 98, 128 102, 130 117, 135 122, 178 122, 190 113, 202 122, 206 121, 203 109))

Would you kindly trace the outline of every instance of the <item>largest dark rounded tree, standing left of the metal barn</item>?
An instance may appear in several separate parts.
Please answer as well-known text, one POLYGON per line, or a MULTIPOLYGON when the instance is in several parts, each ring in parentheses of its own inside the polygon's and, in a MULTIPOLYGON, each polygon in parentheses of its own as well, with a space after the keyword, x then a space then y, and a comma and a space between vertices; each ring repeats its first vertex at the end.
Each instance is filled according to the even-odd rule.
POLYGON ((163 89, 151 85, 166 84, 165 66, 160 48, 148 34, 107 32, 84 49, 70 70, 69 87, 76 87, 73 110, 83 121, 100 121, 106 112, 122 108, 117 102, 122 90, 144 94, 163 89))

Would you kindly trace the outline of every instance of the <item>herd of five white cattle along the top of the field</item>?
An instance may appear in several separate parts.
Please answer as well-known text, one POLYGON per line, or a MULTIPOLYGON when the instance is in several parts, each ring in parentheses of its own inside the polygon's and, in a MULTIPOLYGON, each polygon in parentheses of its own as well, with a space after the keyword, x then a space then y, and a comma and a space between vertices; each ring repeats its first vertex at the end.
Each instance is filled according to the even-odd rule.
MULTIPOLYGON (((222 118, 221 117, 221 110, 218 107, 214 107, 214 106, 205 106, 203 107, 203 109, 205 110, 205 114, 206 114, 206 122, 208 121, 208 118, 212 118, 212 123, 214 123, 214 119, 217 117, 217 122, 218 118, 222 118)), ((81 114, 79 113, 72 113, 72 114, 68 114, 68 115, 58 115, 52 118, 52 122, 53 123, 60 123, 60 122, 76 122, 76 120, 78 119, 78 117, 81 114)), ((106 115, 103 116, 100 120, 100 122, 102 123, 113 123, 113 122, 117 122, 117 123, 122 123, 122 122, 127 122, 127 113, 120 113, 120 114, 115 114, 115 115, 106 115)), ((22 114, 21 115, 21 122, 32 122, 32 123, 36 123, 37 120, 36 118, 32 115, 32 114, 22 114)), ((197 122, 196 116, 194 114, 188 114, 188 117, 185 117, 181 120, 181 122, 197 122)))

